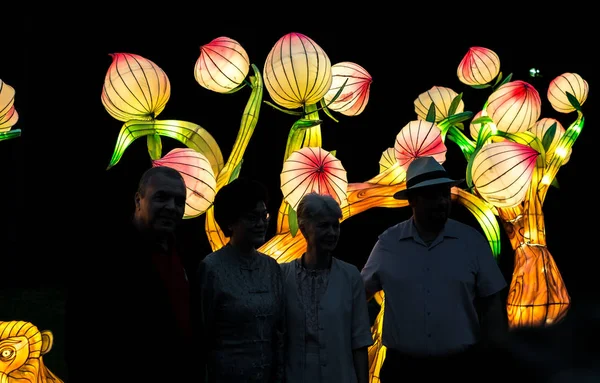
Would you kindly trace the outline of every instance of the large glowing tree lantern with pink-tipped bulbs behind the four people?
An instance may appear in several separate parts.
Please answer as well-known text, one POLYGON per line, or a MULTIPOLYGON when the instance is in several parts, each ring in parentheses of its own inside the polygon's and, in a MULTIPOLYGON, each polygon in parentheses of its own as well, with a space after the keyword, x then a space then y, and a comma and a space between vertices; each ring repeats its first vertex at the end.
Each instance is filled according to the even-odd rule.
MULTIPOLYGON (((334 112, 349 117, 363 113, 373 79, 360 65, 348 61, 331 65, 325 50, 298 32, 276 40, 262 69, 251 64, 246 51, 231 38, 219 37, 201 46, 194 67, 195 79, 201 87, 226 94, 244 88, 251 90, 236 141, 224 161, 219 146, 204 128, 192 122, 156 119, 168 99, 166 75, 163 77, 160 68, 144 60, 135 57, 135 74, 127 74, 113 64, 109 72, 116 72, 106 76, 107 98, 103 92, 103 103, 113 117, 124 122, 109 167, 119 161, 132 142, 144 136, 155 164, 168 162, 175 166, 175 158, 183 150, 162 157, 160 137, 166 136, 206 158, 202 166, 204 175, 199 178, 210 179, 209 169, 212 170, 216 187, 211 190, 218 191, 240 173, 260 106, 264 103, 293 116, 280 174, 284 198, 276 232, 259 248, 278 262, 286 262, 306 250, 294 210, 304 191, 317 190, 337 197, 342 220, 373 207, 406 207, 406 200, 393 198, 406 187, 406 167, 423 155, 433 155, 440 163, 446 161, 449 140, 467 161, 467 187, 453 187, 453 201, 477 219, 494 256, 500 254, 501 225, 514 251, 513 280, 507 301, 511 327, 546 326, 564 317, 570 298, 546 248, 541 207, 547 189, 554 183, 558 169, 567 162, 583 128, 581 105, 587 98, 588 85, 576 73, 558 76, 548 89, 553 108, 561 113, 577 112, 576 120, 565 129, 558 120, 540 119, 541 99, 531 84, 511 81, 512 75, 503 77, 500 60, 492 50, 472 47, 460 61, 457 75, 467 86, 490 90, 485 104, 475 109, 477 113, 466 111, 462 93, 453 89, 434 86, 420 93, 413 103, 416 118, 400 129, 392 147, 382 151, 379 173, 363 182, 348 183, 337 153, 322 149, 321 114, 338 122, 334 112), (126 87, 117 86, 119 80, 137 81, 139 71, 144 76, 154 76, 155 80, 146 88, 131 86, 133 93, 127 95, 123 91, 126 87), (109 81, 115 84, 107 85, 109 81), (140 105, 129 99, 144 97, 148 87, 159 84, 162 86, 153 89, 162 93, 154 103, 140 105), (263 100, 264 88, 270 100, 263 100), (464 122, 469 123, 468 136, 463 132, 464 122), (334 166, 327 168, 328 160, 334 166)), ((201 157, 194 158, 196 161, 201 157)), ((189 165, 190 162, 185 162, 181 166, 189 165)), ((183 168, 180 169, 183 173, 183 168)), ((217 250, 227 243, 227 238, 216 224, 212 206, 206 207, 209 201, 210 198, 205 198, 196 213, 202 214, 206 209, 205 233, 211 248, 217 250)), ((190 218, 196 213, 190 213, 190 218)), ((369 348, 373 383, 379 381, 379 369, 385 358, 381 343, 385 296, 379 292, 375 299, 382 309, 372 327, 374 344, 369 348)))

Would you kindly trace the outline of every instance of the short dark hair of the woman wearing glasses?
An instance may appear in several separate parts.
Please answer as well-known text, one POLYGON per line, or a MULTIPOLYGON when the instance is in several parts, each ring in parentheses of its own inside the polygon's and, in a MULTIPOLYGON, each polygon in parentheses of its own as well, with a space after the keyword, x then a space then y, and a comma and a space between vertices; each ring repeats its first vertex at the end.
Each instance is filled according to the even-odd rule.
POLYGON ((236 178, 223 186, 215 195, 213 207, 215 221, 226 237, 231 236, 229 226, 252 211, 258 202, 268 203, 266 187, 257 180, 236 178))

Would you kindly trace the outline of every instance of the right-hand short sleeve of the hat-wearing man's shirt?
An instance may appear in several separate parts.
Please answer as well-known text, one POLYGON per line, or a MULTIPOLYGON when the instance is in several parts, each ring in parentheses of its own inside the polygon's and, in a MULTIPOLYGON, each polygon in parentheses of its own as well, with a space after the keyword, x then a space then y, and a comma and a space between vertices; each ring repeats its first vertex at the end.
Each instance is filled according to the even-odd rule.
POLYGON ((471 242, 477 259, 477 296, 487 297, 506 287, 506 279, 486 239, 478 233, 471 242))

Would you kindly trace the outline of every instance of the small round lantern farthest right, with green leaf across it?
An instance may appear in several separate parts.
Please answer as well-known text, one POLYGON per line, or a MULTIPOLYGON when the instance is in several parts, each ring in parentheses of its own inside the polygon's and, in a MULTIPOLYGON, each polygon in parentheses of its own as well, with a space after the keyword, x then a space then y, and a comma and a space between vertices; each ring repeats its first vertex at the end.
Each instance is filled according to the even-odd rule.
POLYGON ((589 92, 588 83, 577 73, 563 73, 552 80, 548 85, 548 101, 557 112, 571 113, 575 110, 567 98, 567 92, 583 105, 589 92))

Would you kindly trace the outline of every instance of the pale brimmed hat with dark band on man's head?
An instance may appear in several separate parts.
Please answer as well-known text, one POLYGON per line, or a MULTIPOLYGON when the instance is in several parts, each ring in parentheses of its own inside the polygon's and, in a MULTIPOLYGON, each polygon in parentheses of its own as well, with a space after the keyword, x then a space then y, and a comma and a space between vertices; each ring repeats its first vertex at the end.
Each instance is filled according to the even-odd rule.
POLYGON ((406 189, 395 193, 394 198, 408 199, 408 193, 411 190, 442 184, 456 186, 463 181, 464 179, 453 180, 450 178, 446 169, 435 158, 430 156, 417 157, 408 165, 406 170, 406 189))

